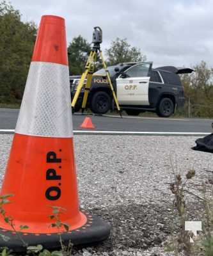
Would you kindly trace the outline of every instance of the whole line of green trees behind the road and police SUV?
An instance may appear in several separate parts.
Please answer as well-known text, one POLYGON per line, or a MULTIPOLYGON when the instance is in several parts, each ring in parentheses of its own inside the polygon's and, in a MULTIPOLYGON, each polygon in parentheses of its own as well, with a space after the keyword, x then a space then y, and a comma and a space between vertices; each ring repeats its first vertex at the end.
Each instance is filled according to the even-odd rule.
MULTIPOLYGON (((28 76, 37 28, 23 22, 19 10, 6 1, 0 2, 0 104, 20 104, 28 76)), ((68 44, 70 75, 81 75, 92 45, 79 35, 68 44)), ((145 61, 146 56, 132 47, 126 38, 115 38, 104 52, 107 65, 128 61, 145 61)), ((182 116, 213 116, 213 69, 201 61, 195 72, 182 75, 186 103, 178 110, 182 116)), ((1 106, 1 105, 0 105, 1 106)))

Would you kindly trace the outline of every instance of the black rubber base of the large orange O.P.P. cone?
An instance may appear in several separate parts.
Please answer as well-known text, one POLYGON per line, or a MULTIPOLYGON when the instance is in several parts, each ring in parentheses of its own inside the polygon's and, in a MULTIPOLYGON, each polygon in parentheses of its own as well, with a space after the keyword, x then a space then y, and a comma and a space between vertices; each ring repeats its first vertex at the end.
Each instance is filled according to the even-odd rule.
MULTIPOLYGON (((74 245, 92 244, 104 241, 109 237, 111 227, 106 221, 93 215, 89 215, 87 218, 88 220, 83 227, 61 234, 63 244, 68 244, 69 241, 74 245)), ((10 237, 9 241, 4 241, 0 237, 0 247, 6 246, 14 252, 26 251, 26 247, 23 246, 22 241, 20 241, 20 238, 15 232, 0 228, 0 233, 6 237, 10 237)), ((27 232, 19 232, 19 234, 28 246, 42 244, 45 249, 56 249, 61 246, 59 243, 59 234, 32 234, 27 232)))

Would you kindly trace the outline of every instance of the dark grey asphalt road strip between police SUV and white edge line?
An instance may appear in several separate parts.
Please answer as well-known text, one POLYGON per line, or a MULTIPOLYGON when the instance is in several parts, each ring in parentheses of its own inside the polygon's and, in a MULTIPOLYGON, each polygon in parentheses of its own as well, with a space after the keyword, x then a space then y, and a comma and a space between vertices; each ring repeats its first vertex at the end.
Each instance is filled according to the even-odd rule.
MULTIPOLYGON (((19 109, 0 109, 0 129, 15 129, 19 109)), ((155 118, 134 116, 90 116, 95 131, 125 131, 125 132, 212 132, 210 119, 198 118, 155 118)), ((79 113, 73 116, 74 130, 79 130, 85 115, 79 113)))

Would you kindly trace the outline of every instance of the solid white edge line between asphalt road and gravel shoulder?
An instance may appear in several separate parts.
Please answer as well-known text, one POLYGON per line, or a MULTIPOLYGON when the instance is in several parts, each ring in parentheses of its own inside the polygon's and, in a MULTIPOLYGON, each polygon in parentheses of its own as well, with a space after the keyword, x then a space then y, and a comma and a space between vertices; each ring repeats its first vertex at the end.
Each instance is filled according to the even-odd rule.
MULTIPOLYGON (((2 134, 14 133, 13 129, 0 129, 2 134)), ((205 136, 210 132, 125 132, 125 131, 81 131, 74 130, 74 134, 108 134, 108 135, 156 135, 156 136, 205 136)))

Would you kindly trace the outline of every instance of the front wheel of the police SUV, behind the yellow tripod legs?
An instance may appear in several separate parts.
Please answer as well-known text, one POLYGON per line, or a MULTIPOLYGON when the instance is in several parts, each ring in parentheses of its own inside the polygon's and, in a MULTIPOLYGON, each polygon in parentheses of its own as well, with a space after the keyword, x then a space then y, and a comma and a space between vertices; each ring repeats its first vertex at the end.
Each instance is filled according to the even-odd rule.
POLYGON ((111 108, 111 100, 106 92, 96 92, 91 98, 91 111, 95 114, 106 114, 111 108))

